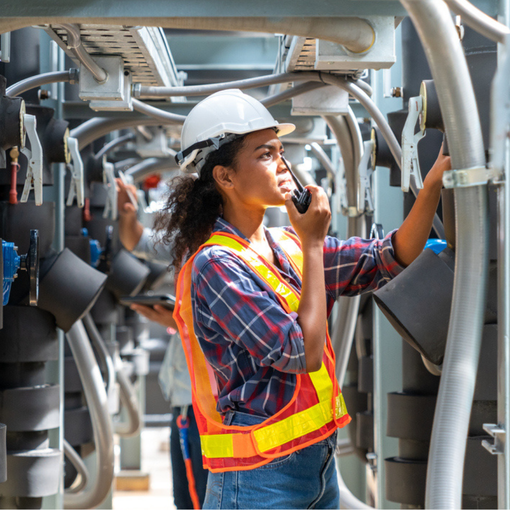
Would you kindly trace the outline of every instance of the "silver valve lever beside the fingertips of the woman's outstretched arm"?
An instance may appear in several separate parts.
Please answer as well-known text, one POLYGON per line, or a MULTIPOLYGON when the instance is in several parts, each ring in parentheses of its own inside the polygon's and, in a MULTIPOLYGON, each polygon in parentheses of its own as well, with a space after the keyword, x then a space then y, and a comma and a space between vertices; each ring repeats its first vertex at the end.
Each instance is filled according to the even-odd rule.
POLYGON ((413 175, 416 187, 423 188, 420 163, 418 161, 418 142, 425 136, 425 130, 415 135, 416 122, 422 113, 423 101, 421 96, 409 98, 409 113, 402 130, 402 191, 408 192, 413 175))

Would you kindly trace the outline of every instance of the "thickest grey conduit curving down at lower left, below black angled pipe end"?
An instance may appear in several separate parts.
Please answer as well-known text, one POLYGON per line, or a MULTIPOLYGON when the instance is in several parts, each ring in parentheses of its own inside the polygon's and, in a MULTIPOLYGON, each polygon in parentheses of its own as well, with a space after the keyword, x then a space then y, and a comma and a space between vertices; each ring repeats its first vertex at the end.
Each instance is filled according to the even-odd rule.
POLYGON ((81 320, 75 322, 66 337, 80 374, 92 421, 96 473, 82 492, 64 494, 64 508, 94 508, 105 500, 112 488, 114 471, 112 421, 103 377, 83 322, 81 320))

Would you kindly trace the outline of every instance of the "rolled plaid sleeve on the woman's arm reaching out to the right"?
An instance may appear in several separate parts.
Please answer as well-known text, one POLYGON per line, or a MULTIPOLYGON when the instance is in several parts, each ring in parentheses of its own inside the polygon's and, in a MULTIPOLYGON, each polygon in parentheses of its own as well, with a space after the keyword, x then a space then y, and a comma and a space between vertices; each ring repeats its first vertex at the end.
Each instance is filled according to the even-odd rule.
POLYGON ((337 298, 374 291, 403 271, 396 261, 392 238, 351 237, 341 241, 327 237, 324 242, 324 275, 326 290, 337 298))

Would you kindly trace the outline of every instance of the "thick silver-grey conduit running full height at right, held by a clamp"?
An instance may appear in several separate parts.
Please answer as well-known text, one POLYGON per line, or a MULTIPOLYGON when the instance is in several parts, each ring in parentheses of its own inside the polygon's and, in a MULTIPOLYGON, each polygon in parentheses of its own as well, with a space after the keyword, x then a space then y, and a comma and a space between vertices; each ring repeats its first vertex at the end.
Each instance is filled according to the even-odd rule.
MULTIPOLYGON (((452 168, 485 165, 468 66, 442 0, 401 0, 436 83, 452 168)), ((487 186, 455 188, 456 252, 448 339, 427 465, 426 508, 461 508, 466 439, 481 343, 488 270, 487 186)))

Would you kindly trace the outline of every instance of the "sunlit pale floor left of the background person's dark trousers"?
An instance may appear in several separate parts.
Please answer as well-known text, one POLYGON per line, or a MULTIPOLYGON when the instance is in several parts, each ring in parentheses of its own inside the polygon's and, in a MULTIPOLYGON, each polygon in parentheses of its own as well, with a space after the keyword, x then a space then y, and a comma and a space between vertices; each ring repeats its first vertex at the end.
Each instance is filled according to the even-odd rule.
POLYGON ((142 471, 149 473, 148 492, 115 491, 113 510, 169 510, 175 508, 169 453, 169 427, 142 430, 142 471))

